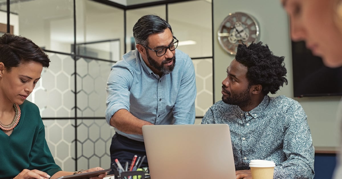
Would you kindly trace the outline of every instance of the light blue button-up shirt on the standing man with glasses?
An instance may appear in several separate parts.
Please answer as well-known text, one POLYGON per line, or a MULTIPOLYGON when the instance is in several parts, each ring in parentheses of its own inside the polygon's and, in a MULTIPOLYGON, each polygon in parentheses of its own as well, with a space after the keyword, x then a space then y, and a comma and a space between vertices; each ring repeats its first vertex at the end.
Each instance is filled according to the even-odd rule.
MULTIPOLYGON (((176 50, 176 61, 171 73, 159 77, 142 59, 139 51, 123 55, 111 67, 107 81, 106 121, 120 109, 155 125, 194 124, 196 82, 190 57, 176 50)), ((137 141, 142 135, 115 131, 137 141)))

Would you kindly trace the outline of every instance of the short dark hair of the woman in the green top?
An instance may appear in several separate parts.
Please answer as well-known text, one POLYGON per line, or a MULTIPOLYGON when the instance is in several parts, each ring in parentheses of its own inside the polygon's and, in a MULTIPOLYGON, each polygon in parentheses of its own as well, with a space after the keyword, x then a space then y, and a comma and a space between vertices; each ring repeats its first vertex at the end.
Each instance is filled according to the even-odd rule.
POLYGON ((49 67, 50 59, 34 42, 25 37, 6 33, 0 37, 0 62, 8 71, 20 63, 34 61, 49 67))

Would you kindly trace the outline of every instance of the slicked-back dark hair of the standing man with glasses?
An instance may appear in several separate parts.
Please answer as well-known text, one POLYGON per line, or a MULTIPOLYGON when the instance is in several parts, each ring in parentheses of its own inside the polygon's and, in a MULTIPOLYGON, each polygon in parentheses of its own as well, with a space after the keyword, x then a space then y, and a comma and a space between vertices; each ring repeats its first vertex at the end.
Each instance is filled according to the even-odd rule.
POLYGON ((133 36, 136 44, 148 46, 148 36, 159 34, 169 28, 172 29, 168 22, 156 15, 144 15, 135 23, 133 27, 133 36))

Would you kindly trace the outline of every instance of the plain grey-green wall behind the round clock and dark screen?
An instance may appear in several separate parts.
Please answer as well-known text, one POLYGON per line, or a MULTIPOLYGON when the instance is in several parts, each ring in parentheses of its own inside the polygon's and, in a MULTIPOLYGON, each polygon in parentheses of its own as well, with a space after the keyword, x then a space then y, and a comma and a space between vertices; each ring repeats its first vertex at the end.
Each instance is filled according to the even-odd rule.
MULTIPOLYGON (((254 16, 260 25, 260 41, 268 44, 275 55, 285 56, 289 84, 276 95, 286 95, 301 103, 312 132, 315 146, 338 146, 336 111, 340 97, 293 97, 291 40, 289 23, 279 1, 274 0, 213 0, 214 15, 214 94, 221 100, 221 82, 226 77, 226 68, 234 59, 218 42, 217 31, 224 18, 233 12, 245 12, 254 16)), ((319 85, 319 84, 318 84, 319 85)))

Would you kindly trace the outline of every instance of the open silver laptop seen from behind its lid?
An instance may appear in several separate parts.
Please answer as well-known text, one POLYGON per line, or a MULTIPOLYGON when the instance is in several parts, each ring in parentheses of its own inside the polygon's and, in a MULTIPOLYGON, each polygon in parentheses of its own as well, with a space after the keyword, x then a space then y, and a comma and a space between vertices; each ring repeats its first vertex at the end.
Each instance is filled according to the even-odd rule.
POLYGON ((227 124, 143 126, 151 179, 236 178, 227 124))

